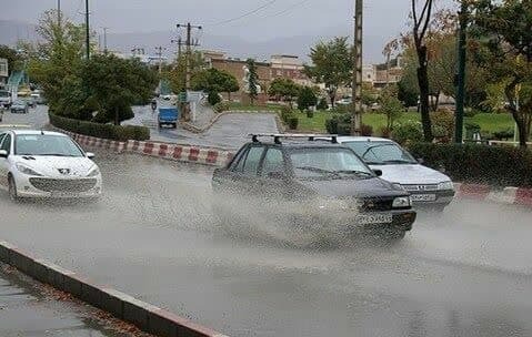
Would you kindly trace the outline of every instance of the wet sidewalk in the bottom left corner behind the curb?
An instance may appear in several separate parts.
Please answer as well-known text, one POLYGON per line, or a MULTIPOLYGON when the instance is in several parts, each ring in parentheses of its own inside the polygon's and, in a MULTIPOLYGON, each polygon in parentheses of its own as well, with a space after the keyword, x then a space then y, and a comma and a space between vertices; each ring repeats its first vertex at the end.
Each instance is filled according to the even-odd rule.
POLYGON ((0 336, 148 336, 61 296, 0 263, 0 336))

